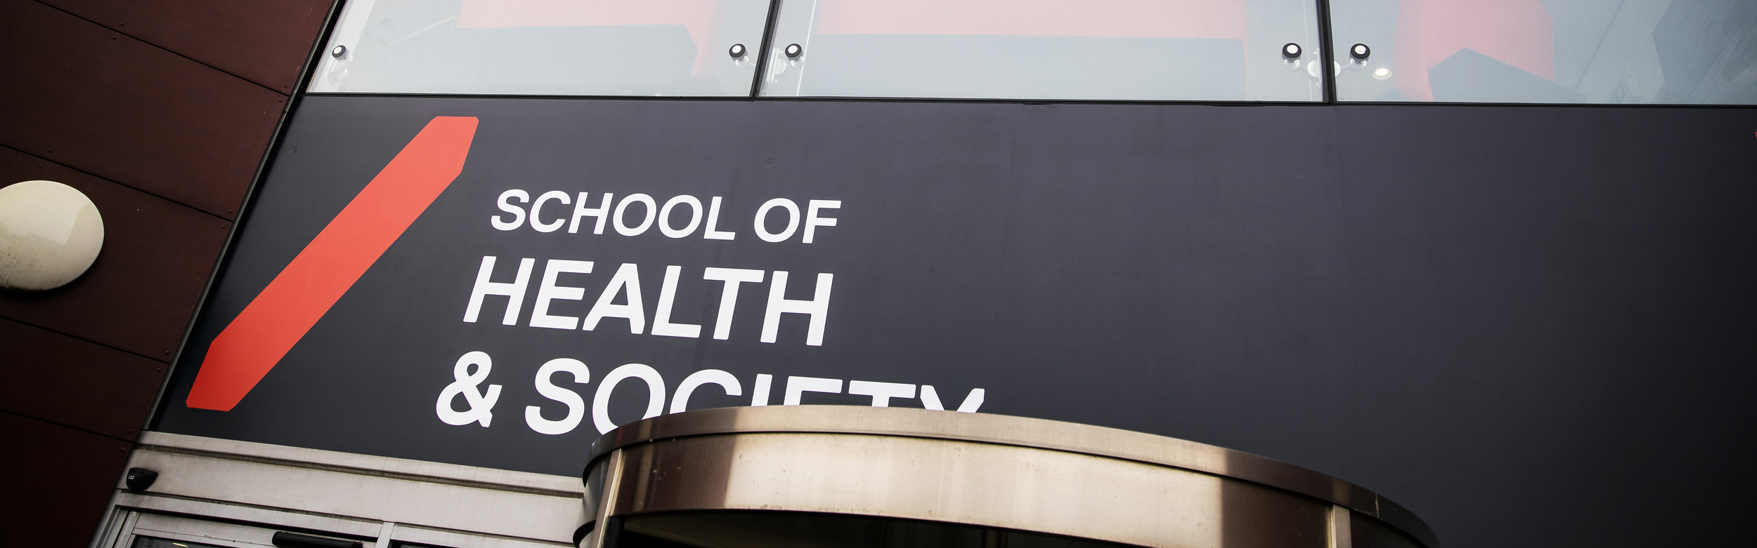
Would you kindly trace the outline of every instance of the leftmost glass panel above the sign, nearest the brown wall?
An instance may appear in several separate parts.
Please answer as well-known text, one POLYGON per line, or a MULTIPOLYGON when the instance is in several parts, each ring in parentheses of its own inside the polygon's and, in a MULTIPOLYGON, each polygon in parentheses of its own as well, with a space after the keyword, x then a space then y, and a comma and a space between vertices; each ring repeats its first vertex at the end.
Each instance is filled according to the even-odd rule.
POLYGON ((355 0, 311 91, 748 97, 766 19, 766 0, 355 0))

